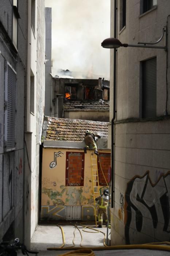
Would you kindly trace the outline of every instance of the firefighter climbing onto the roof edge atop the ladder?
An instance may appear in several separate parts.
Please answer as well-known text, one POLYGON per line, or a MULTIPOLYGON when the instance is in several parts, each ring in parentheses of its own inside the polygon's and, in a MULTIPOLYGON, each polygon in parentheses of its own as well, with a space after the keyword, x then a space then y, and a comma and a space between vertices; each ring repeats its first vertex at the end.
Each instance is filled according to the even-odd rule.
POLYGON ((99 139, 101 138, 101 136, 98 135, 97 133, 90 132, 89 130, 86 131, 86 135, 84 137, 84 142, 86 144, 86 146, 84 147, 84 153, 87 153, 87 149, 90 147, 90 145, 92 145, 94 154, 99 155, 95 142, 95 137, 99 139))

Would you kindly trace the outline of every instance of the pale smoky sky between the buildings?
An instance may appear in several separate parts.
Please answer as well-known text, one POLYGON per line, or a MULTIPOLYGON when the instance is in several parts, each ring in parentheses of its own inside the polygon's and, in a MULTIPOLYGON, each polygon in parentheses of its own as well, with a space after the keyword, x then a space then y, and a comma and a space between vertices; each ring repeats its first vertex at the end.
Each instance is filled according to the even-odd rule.
POLYGON ((52 8, 52 75, 73 71, 74 78, 109 80, 110 0, 45 0, 52 8))

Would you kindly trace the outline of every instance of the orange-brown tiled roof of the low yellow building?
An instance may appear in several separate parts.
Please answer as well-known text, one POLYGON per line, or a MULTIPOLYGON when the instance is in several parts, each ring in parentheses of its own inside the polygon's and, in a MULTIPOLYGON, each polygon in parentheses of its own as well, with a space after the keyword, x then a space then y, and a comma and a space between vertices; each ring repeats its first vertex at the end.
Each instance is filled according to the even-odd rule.
POLYGON ((82 142, 85 132, 98 133, 101 138, 108 137, 107 122, 77 120, 67 118, 46 117, 47 131, 45 140, 63 140, 71 142, 82 142))

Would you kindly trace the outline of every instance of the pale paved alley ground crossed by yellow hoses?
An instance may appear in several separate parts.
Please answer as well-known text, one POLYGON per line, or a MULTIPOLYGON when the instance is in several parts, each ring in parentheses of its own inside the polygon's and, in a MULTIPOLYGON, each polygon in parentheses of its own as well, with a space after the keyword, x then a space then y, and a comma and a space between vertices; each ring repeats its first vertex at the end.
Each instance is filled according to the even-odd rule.
MULTIPOLYGON (((110 256, 110 255, 119 255, 119 256, 170 256, 168 251, 158 251, 158 250, 149 250, 149 249, 116 249, 108 250, 104 246, 104 243, 107 244, 107 227, 102 229, 96 228, 95 230, 87 229, 80 225, 80 223, 60 223, 62 229, 56 224, 42 224, 38 225, 35 233, 31 240, 31 249, 37 250, 39 256, 50 256, 50 255, 62 255, 74 250, 74 248, 91 248, 95 256, 110 256), (76 224, 76 227, 74 226, 76 224), (80 246, 81 244, 81 246, 80 246), (66 250, 60 250, 69 246, 74 246, 66 250), (104 250, 95 250, 96 246, 104 246, 104 250), (49 251, 47 248, 58 248, 57 251, 49 251)), ((83 223, 83 225, 90 225, 89 223, 83 223)), ((92 226, 92 225, 91 225, 92 226)), ((108 229, 108 244, 110 238, 110 229, 108 229)), ((161 246, 161 245, 160 245, 161 246)), ((97 248, 96 248, 97 249, 97 248)), ((20 253, 19 253, 20 256, 20 253)))

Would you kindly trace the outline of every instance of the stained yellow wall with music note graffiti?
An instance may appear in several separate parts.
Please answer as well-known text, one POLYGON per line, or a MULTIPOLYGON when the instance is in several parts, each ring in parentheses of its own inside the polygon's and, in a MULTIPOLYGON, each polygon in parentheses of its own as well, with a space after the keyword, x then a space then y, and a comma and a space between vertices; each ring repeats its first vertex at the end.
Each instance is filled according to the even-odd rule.
MULTIPOLYGON (((90 152, 88 150, 87 154, 84 154, 84 151, 78 148, 43 148, 41 220, 75 218, 94 221, 90 152), (82 160, 84 185, 82 186, 66 185, 67 161, 69 161, 66 154, 70 152, 76 153, 77 156, 82 154, 84 158, 82 160)), ((110 155, 110 150, 100 150, 100 154, 102 153, 110 155)), ((73 164, 77 168, 78 161, 73 161, 73 164)), ((109 166, 110 162, 105 163, 107 164, 109 166)), ((70 168, 71 165, 68 172, 71 172, 70 168)), ((78 179, 78 176, 76 177, 75 181, 78 179)))

